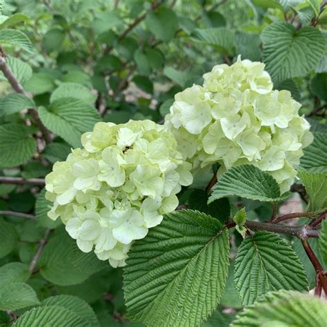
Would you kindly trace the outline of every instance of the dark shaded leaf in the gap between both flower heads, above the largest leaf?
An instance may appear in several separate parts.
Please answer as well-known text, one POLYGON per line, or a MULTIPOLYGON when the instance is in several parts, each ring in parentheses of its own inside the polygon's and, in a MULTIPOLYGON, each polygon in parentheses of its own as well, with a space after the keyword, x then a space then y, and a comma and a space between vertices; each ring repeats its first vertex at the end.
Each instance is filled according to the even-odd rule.
POLYGON ((204 212, 224 223, 230 216, 228 199, 219 199, 208 204, 208 194, 205 190, 195 188, 188 197, 188 208, 204 212))

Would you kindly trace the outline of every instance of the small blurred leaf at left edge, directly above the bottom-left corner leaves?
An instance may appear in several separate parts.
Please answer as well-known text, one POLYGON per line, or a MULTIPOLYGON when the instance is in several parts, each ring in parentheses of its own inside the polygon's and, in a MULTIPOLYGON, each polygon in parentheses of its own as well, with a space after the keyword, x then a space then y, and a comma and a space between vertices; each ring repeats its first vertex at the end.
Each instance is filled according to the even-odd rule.
POLYGON ((0 267, 0 285, 27 281, 30 277, 28 265, 21 262, 10 262, 0 267))

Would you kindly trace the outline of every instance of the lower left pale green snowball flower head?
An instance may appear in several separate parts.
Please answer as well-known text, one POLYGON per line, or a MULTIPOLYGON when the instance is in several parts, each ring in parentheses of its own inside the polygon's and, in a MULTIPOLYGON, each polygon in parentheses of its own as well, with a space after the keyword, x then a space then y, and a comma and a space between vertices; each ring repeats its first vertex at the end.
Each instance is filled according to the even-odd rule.
POLYGON ((83 252, 123 266, 135 239, 175 210, 181 186, 192 183, 166 127, 153 121, 97 123, 46 177, 51 219, 61 218, 83 252))

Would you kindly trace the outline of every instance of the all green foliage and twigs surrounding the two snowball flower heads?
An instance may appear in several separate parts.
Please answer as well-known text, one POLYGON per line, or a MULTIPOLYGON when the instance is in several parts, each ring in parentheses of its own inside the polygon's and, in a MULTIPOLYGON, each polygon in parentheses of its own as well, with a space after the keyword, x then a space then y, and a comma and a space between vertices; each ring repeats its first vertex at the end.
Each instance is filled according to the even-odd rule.
POLYGON ((2 326, 324 326, 326 304, 305 293, 327 291, 326 1, 0 0, 0 14, 2 326), (162 121, 237 54, 264 61, 311 119, 291 189, 305 211, 277 215, 291 193, 254 166, 209 196, 213 166, 123 272, 81 252, 47 217, 52 164, 98 121, 162 121))

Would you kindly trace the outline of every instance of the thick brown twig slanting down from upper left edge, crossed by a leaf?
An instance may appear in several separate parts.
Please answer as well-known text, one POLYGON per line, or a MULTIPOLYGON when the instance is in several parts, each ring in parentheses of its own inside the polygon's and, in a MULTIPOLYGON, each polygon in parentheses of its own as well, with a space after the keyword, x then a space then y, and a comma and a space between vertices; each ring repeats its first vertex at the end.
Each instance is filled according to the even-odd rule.
MULTIPOLYGON (((12 71, 8 67, 8 65, 6 63, 6 59, 3 57, 3 52, 2 52, 2 55, 0 56, 0 70, 1 70, 1 72, 3 72, 3 75, 5 75, 6 79, 8 79, 10 85, 17 93, 20 93, 21 95, 25 95, 26 97, 28 97, 28 93, 23 89, 23 87, 21 86, 21 83, 19 83, 18 79, 14 76, 14 74, 12 74, 12 71)), ((28 112, 34 119, 37 126, 39 126, 46 143, 50 143, 51 133, 46 128, 46 126, 43 125, 43 123, 39 117, 39 113, 37 112, 37 109, 30 108, 30 109, 28 109, 28 112)))

